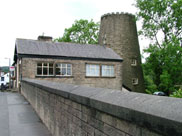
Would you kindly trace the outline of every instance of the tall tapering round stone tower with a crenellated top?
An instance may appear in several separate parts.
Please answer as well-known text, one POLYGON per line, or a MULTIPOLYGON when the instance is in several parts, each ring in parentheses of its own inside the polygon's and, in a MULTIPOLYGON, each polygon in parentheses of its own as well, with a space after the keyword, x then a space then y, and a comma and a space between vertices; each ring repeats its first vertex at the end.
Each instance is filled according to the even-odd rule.
POLYGON ((135 16, 118 12, 103 15, 99 44, 112 48, 123 58, 123 86, 134 92, 144 92, 135 16))

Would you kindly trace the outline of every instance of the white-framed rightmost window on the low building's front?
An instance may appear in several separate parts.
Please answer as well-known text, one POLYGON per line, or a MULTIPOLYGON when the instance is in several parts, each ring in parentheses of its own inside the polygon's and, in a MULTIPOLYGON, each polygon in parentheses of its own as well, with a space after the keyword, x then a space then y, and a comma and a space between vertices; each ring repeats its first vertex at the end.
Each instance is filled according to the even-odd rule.
POLYGON ((114 77, 115 76, 115 69, 114 69, 114 65, 101 65, 101 76, 102 77, 114 77), (109 75, 103 75, 103 72, 105 70, 109 71, 109 75), (113 74, 112 74, 112 70, 113 70, 113 74))

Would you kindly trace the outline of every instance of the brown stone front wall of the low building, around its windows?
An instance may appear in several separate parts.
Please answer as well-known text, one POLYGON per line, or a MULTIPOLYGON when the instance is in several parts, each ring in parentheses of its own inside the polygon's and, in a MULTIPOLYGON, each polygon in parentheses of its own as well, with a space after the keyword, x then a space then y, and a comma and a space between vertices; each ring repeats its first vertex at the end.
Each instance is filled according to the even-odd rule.
POLYGON ((55 82, 69 83, 75 85, 84 85, 89 87, 102 87, 109 89, 122 90, 122 62, 114 61, 91 61, 91 60, 71 60, 71 59, 46 59, 46 58, 22 58, 21 61, 22 78, 33 78, 41 80, 50 80, 55 82), (53 62, 72 64, 71 77, 38 77, 37 63, 53 62), (86 63, 88 64, 107 64, 114 65, 115 77, 86 77, 86 63))

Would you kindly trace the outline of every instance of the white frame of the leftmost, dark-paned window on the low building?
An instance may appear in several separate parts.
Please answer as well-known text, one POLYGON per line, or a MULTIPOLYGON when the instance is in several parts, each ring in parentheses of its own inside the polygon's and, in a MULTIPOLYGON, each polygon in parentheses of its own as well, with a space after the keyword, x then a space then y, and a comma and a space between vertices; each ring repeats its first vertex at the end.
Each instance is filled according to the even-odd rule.
POLYGON ((37 63, 37 76, 54 76, 54 65, 51 62, 38 62, 37 63), (47 64, 47 66, 44 66, 44 64, 47 64), (42 66, 38 66, 38 64, 42 64, 42 66), (53 73, 49 73, 50 64, 52 64, 53 73), (38 68, 41 68, 41 74, 38 74, 38 68), (47 75, 44 75, 44 68, 47 68, 47 75))

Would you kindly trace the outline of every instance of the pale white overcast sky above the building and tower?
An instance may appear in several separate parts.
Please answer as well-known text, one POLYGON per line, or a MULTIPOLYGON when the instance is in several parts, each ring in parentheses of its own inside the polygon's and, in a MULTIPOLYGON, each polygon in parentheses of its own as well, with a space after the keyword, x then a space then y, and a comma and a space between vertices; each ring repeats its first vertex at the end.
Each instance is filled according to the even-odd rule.
MULTIPOLYGON (((99 22, 103 14, 135 14, 135 0, 1 0, 0 1, 0 66, 8 66, 16 38, 34 39, 39 35, 61 37, 75 20, 99 22)), ((140 29, 140 23, 137 26, 140 29)), ((139 39, 141 50, 148 45, 139 39)))

